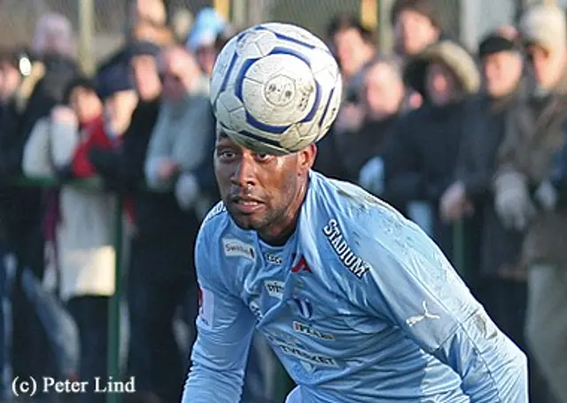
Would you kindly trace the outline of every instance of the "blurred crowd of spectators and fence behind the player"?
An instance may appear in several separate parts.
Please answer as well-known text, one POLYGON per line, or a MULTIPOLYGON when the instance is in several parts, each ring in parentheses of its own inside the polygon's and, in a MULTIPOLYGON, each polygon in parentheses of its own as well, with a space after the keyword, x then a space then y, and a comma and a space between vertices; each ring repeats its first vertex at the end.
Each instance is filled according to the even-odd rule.
MULTIPOLYGON (((415 221, 567 390, 567 0, 0 0, 0 401, 179 401, 218 200, 209 77, 262 21, 329 43, 315 169, 415 221), (17 397, 12 380, 136 379, 17 397), (2 382, 3 380, 3 382, 2 382)), ((293 386, 260 334, 242 403, 293 386)))

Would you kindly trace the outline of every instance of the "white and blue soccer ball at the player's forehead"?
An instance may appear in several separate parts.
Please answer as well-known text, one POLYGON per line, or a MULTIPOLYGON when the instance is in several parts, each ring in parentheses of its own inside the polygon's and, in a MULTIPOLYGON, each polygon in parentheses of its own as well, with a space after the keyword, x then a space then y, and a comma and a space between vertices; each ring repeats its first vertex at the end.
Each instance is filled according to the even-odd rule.
POLYGON ((329 48, 306 29, 251 27, 221 50, 211 79, 217 123, 236 143, 285 155, 320 140, 337 118, 342 81, 329 48))

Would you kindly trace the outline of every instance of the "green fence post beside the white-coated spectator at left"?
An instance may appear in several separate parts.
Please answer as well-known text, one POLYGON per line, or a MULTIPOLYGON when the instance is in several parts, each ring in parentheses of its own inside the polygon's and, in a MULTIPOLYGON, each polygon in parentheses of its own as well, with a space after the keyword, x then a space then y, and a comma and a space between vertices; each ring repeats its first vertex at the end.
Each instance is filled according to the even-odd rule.
MULTIPOLYGON (((108 376, 112 376, 113 380, 120 380, 120 280, 121 280, 121 263, 122 263, 122 203, 120 196, 116 200, 116 212, 114 220, 114 279, 115 288, 114 295, 110 299, 108 306, 108 376)), ((120 393, 108 393, 106 395, 107 403, 120 403, 120 393)))

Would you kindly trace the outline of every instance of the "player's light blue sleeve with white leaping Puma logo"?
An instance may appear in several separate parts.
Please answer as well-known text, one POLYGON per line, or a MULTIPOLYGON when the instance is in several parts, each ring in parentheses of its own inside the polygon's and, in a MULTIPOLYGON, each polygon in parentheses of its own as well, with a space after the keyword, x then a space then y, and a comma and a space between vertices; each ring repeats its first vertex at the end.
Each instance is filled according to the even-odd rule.
MULTIPOLYGON (((376 244, 362 278, 370 312, 400 327, 423 351, 453 368, 476 403, 524 403, 527 362, 419 229, 398 246, 376 244)), ((396 242, 396 241, 392 241, 396 242)))

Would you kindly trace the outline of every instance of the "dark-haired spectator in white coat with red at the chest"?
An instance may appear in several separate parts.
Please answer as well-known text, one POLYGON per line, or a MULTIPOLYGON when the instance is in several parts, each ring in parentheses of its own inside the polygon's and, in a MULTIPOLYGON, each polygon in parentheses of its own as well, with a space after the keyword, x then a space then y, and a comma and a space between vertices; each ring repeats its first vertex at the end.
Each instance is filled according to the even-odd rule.
MULTIPOLYGON (((36 125, 24 154, 28 175, 89 177, 95 174, 88 159, 93 144, 108 144, 103 104, 93 84, 79 78, 66 89, 66 106, 57 106, 46 125, 36 125), (47 146, 44 146, 44 145, 47 146), (43 155, 42 155, 43 154, 43 155), (46 168, 42 167, 46 161, 46 168)), ((60 297, 67 303, 79 329, 82 381, 106 376, 108 301, 114 293, 112 195, 64 186, 46 222, 56 227, 48 234, 55 244, 60 297), (60 216, 59 216, 60 214, 60 216), (88 228, 89 230, 85 230, 88 228)), ((104 402, 89 383, 82 401, 104 402)))

